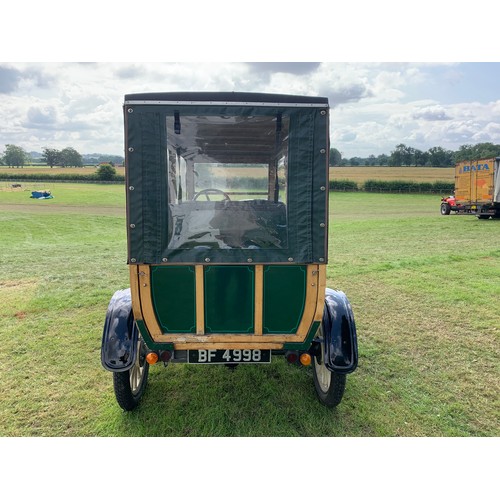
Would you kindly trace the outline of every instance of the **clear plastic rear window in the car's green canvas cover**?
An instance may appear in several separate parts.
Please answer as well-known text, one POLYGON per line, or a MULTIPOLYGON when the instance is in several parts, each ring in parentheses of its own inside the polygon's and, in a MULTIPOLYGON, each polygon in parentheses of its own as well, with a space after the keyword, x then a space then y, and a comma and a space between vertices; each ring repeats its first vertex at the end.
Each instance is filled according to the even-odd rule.
POLYGON ((289 119, 167 118, 169 248, 287 248, 289 119))

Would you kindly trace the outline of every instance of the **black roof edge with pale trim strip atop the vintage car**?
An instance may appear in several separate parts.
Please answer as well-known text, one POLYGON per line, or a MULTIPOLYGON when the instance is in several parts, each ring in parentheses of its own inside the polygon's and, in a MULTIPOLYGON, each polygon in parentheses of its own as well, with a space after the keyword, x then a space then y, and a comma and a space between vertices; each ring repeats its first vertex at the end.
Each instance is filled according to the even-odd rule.
POLYGON ((126 94, 125 105, 130 104, 212 104, 328 107, 327 97, 268 94, 259 92, 151 92, 126 94))

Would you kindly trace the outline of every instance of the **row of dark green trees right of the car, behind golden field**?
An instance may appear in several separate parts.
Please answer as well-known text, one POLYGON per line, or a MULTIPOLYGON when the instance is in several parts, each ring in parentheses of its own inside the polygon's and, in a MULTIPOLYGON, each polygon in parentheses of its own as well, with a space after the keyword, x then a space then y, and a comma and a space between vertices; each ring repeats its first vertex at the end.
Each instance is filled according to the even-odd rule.
POLYGON ((459 161, 474 161, 500 156, 500 144, 482 142, 464 144, 458 151, 450 151, 440 146, 427 151, 398 144, 390 155, 370 155, 368 158, 342 158, 335 148, 330 148, 330 166, 403 166, 403 167, 452 167, 459 161))

